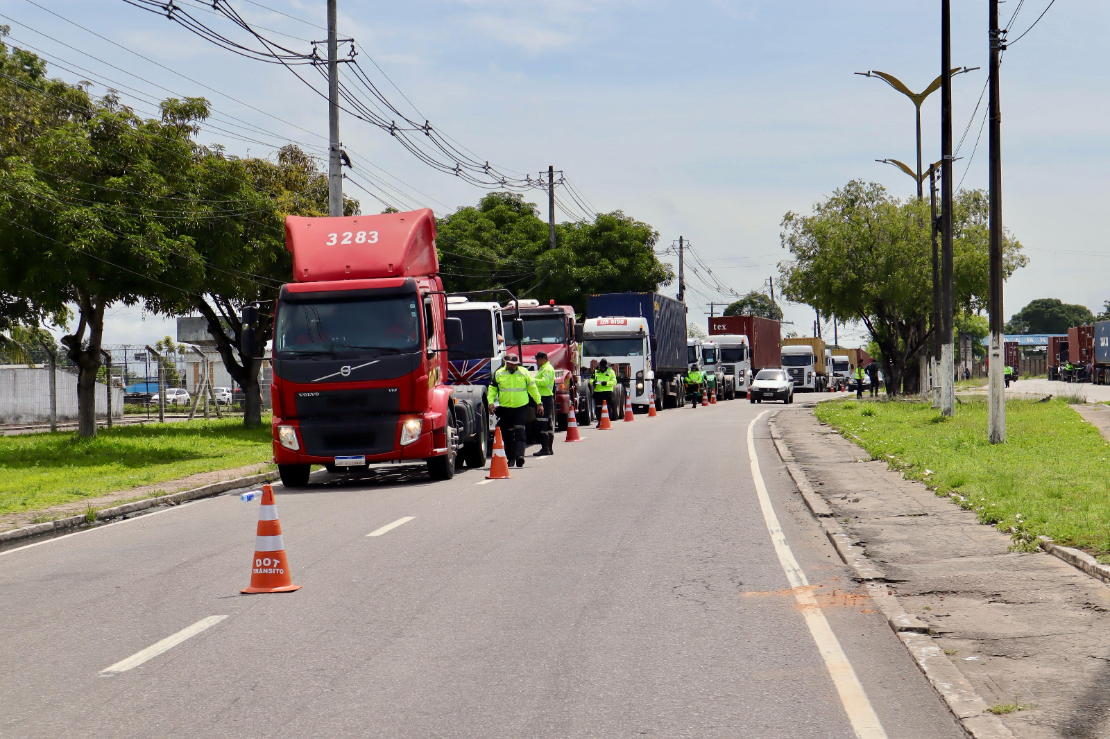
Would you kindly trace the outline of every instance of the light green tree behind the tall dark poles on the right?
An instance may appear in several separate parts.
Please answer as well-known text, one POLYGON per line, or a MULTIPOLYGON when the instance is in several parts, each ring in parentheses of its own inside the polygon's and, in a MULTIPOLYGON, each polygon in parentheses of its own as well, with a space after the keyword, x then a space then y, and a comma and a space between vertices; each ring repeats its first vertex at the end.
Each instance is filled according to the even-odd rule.
MULTIPOLYGON (((960 191, 953 215, 953 297, 978 311, 988 291, 988 201, 960 191)), ((899 201, 876 183, 852 180, 814 206, 787 213, 779 265, 784 294, 823 316, 861 322, 879 348, 887 393, 917 392, 917 357, 929 340, 932 305, 928 205, 899 201)), ((1003 272, 1023 266, 1021 245, 1003 234, 1003 272)))

